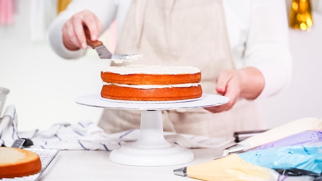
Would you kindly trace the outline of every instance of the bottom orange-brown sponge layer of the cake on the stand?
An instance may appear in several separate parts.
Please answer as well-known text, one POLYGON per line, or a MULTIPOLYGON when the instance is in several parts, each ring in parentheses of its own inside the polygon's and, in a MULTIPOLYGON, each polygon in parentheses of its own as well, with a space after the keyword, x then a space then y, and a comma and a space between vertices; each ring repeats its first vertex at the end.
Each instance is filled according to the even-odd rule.
POLYGON ((202 95, 201 86, 150 88, 139 89, 103 85, 101 96, 107 99, 132 100, 132 101, 169 101, 199 98, 202 95))

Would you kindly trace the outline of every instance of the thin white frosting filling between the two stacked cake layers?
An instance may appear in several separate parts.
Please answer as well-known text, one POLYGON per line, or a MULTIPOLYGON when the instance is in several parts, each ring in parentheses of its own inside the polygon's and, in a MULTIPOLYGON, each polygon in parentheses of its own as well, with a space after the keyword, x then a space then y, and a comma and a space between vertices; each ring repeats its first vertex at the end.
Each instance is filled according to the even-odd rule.
POLYGON ((103 85, 116 85, 120 87, 151 89, 151 88, 192 87, 192 86, 198 87, 200 83, 173 84, 173 85, 128 85, 128 84, 112 84, 108 82, 103 82, 103 85))

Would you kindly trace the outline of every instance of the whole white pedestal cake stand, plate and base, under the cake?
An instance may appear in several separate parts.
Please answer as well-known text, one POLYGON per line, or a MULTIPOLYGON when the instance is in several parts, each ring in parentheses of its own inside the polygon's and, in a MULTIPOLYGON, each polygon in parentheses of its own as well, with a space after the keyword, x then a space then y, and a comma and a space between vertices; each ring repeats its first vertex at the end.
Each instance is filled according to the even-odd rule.
POLYGON ((99 94, 76 98, 78 104, 122 109, 142 110, 139 139, 120 149, 113 150, 110 160, 116 164, 131 166, 170 166, 193 161, 193 153, 181 146, 169 143, 163 134, 162 112, 177 108, 201 108, 225 104, 229 98, 203 94, 201 98, 180 101, 121 101, 104 99, 99 94))

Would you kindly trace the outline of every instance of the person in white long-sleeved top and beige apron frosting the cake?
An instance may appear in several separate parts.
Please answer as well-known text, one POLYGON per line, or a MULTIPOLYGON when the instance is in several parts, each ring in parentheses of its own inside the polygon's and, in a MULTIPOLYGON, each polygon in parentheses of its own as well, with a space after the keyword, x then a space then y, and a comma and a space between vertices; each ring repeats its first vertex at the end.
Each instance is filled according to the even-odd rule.
MULTIPOLYGON (((142 53, 138 64, 199 67, 203 92, 230 98, 221 106, 163 111, 165 131, 232 136, 263 129, 252 100, 272 96, 290 81, 284 1, 74 0, 52 22, 52 48, 63 58, 79 58, 87 49, 83 25, 95 41, 114 19, 115 53, 142 53)), ((113 133, 139 128, 139 122, 140 111, 105 109, 99 126, 113 133)))

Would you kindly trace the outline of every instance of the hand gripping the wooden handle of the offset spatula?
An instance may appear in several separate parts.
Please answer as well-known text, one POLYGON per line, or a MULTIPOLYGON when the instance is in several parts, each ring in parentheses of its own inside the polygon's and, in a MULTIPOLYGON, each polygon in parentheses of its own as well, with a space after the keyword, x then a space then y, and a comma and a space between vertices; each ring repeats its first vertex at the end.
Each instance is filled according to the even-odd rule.
POLYGON ((84 10, 74 14, 63 26, 63 43, 69 50, 86 49, 86 38, 83 26, 91 32, 91 40, 96 41, 102 30, 102 23, 91 11, 84 10))

